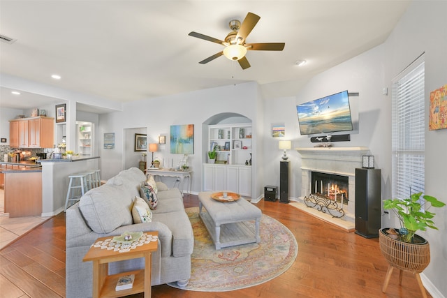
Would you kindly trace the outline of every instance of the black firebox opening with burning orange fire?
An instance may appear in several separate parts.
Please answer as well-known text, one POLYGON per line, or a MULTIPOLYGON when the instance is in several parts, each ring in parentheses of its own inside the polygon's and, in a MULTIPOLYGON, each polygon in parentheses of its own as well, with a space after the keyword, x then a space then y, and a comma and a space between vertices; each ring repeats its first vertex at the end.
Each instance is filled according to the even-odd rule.
POLYGON ((335 202, 348 204, 349 177, 322 172, 312 172, 311 193, 335 202))

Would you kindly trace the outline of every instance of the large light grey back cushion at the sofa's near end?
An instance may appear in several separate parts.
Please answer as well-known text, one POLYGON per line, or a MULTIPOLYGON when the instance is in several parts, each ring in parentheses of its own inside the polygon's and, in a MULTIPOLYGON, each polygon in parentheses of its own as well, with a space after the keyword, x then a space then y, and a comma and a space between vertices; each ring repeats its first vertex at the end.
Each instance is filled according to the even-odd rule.
POLYGON ((98 234, 110 233, 133 223, 131 209, 135 192, 136 189, 131 194, 122 186, 104 184, 85 193, 79 201, 79 209, 91 230, 98 234))

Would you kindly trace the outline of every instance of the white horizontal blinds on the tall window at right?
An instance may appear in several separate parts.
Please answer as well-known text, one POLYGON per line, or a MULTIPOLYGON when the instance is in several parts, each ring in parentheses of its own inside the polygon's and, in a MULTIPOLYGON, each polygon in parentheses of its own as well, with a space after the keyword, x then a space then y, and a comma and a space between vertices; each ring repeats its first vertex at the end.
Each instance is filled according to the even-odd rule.
POLYGON ((393 198, 424 192, 424 76, 422 55, 393 80, 393 198))

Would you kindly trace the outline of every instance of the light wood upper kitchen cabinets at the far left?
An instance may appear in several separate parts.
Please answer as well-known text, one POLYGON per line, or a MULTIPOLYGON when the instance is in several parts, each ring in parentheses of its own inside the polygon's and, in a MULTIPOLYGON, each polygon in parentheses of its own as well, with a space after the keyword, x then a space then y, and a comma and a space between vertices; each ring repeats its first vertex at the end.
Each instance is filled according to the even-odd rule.
POLYGON ((10 120, 10 147, 52 148, 54 142, 54 118, 34 117, 10 120))

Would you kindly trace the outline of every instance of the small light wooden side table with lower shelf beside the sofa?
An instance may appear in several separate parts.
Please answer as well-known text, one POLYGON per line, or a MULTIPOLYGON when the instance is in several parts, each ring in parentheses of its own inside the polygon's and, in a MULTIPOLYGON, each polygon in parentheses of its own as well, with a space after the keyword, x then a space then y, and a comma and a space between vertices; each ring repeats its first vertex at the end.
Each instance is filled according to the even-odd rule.
MULTIPOLYGON (((145 234, 157 237, 159 235, 158 232, 148 232, 145 234)), ((112 238, 113 237, 101 237, 96 239, 95 243, 112 238)), ((151 297, 152 252, 157 250, 158 245, 158 241, 150 241, 148 244, 136 246, 135 248, 124 252, 91 246, 82 261, 93 262, 93 297, 122 297, 140 292, 145 293, 145 298, 151 297), (108 275, 109 262, 131 260, 135 258, 145 258, 145 269, 108 275), (135 274, 133 287, 128 290, 116 291, 115 286, 117 285, 119 277, 128 274, 135 274)))

